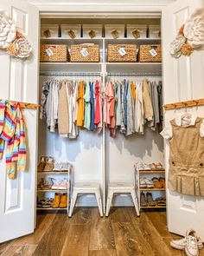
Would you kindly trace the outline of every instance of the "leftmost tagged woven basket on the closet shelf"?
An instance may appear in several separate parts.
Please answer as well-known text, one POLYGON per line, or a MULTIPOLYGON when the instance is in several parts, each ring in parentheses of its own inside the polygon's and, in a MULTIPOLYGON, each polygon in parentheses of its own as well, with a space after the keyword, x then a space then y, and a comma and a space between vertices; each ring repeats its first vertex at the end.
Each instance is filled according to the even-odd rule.
POLYGON ((67 62, 67 45, 41 44, 40 60, 41 62, 67 62))

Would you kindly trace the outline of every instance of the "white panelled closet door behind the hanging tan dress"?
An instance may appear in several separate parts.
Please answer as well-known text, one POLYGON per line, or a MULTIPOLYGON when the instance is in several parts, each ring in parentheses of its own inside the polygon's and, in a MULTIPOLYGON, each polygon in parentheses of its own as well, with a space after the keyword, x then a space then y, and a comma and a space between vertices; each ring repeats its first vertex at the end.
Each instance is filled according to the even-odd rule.
MULTIPOLYGON (((169 54, 169 44, 185 20, 197 8, 204 7, 203 0, 178 0, 163 9, 163 96, 164 104, 204 98, 204 50, 194 50, 191 56, 178 59, 169 54)), ((190 108, 195 115, 204 116, 204 107, 190 108)), ((165 124, 175 118, 176 112, 164 113, 165 124)), ((188 142, 188 141, 187 141, 188 142)), ((169 145, 165 141, 166 170, 169 167, 169 145)), ((204 198, 177 194, 167 189, 169 231, 184 235, 194 228, 204 241, 204 198)))

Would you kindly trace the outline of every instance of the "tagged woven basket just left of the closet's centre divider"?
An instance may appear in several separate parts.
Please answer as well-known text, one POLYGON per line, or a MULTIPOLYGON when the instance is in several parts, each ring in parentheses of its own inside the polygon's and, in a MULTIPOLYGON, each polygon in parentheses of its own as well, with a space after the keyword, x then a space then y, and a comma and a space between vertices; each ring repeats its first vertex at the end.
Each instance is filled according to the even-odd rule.
POLYGON ((99 45, 72 44, 71 62, 99 62, 99 45))

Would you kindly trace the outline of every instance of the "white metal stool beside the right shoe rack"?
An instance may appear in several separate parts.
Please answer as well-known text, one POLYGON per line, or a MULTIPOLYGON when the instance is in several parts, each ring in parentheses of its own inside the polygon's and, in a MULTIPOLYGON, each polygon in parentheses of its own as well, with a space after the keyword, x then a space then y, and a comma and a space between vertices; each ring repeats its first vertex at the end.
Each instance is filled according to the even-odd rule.
POLYGON ((107 217, 110 211, 110 207, 112 205, 112 197, 113 194, 131 194, 137 216, 139 216, 139 207, 137 202, 136 190, 135 186, 132 183, 109 183, 108 185, 108 196, 107 196, 107 204, 106 204, 106 212, 105 216, 107 217))

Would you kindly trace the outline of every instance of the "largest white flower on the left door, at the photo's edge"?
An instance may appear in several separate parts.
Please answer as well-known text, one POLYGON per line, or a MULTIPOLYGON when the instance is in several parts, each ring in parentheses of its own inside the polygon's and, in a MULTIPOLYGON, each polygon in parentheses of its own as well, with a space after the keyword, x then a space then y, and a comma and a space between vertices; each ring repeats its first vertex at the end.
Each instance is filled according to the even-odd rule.
POLYGON ((16 39, 16 25, 0 13, 0 48, 7 48, 16 39))

